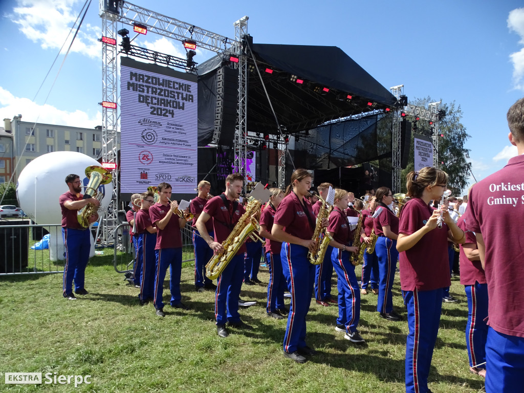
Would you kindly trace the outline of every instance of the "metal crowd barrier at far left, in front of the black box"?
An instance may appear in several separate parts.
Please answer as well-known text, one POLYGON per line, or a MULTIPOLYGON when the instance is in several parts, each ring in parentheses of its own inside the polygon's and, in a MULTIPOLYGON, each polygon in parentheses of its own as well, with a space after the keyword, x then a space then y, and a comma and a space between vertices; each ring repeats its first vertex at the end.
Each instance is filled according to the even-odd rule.
POLYGON ((63 244, 61 225, 26 223, 29 221, 0 220, 0 276, 62 273, 64 261, 51 261, 49 248, 31 248, 48 231, 56 234, 56 241, 63 244))

